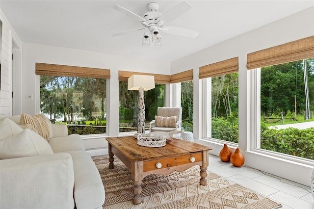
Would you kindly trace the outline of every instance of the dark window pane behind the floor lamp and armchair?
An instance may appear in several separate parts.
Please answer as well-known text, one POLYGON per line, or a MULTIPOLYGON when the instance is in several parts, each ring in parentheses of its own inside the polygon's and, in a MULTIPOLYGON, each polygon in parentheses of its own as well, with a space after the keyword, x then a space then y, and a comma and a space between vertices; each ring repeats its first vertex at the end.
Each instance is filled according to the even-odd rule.
MULTIPOLYGON (((137 131, 138 91, 128 90, 128 81, 119 81, 119 132, 137 131)), ((165 84, 156 83, 155 88, 145 91, 145 130, 155 119, 157 108, 164 106, 165 84)))

